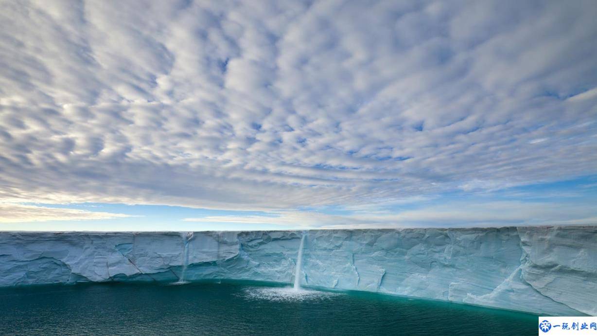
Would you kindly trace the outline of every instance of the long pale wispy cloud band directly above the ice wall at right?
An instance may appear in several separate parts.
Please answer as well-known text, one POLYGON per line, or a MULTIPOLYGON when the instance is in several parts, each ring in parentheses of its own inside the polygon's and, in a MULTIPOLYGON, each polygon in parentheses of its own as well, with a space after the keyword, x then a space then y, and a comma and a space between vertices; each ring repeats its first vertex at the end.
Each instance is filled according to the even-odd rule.
POLYGON ((219 215, 184 218, 209 224, 273 224, 304 229, 393 227, 496 227, 595 224, 595 210, 587 204, 556 202, 458 202, 404 211, 355 211, 333 215, 315 211, 276 211, 262 215, 219 215))

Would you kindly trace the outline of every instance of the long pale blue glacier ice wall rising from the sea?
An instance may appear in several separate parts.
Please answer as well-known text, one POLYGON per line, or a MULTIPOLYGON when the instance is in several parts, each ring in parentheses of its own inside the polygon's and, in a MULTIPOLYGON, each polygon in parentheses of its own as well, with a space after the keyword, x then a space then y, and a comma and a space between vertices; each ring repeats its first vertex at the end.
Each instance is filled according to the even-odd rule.
MULTIPOLYGON (((597 227, 312 230, 304 286, 597 315, 597 227)), ((303 232, 0 232, 0 286, 291 283, 303 232), (185 248, 186 244, 186 248, 185 248)))

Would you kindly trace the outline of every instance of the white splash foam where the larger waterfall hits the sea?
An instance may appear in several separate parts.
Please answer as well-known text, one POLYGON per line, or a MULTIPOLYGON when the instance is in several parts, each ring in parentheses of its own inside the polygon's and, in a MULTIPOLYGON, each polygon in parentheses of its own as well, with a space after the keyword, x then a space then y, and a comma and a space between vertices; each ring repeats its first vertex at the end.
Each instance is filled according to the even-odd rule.
POLYGON ((293 287, 248 287, 242 291, 242 297, 251 300, 267 301, 307 301, 322 300, 342 295, 340 292, 296 290, 293 287))

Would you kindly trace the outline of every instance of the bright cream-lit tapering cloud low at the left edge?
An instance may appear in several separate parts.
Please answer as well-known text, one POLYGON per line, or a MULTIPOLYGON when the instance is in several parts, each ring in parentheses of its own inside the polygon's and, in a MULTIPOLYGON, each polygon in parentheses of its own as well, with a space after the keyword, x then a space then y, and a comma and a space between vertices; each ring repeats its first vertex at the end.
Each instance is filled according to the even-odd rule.
POLYGON ((24 223, 33 221, 106 220, 131 217, 101 211, 48 208, 47 206, 0 203, 0 223, 24 223))

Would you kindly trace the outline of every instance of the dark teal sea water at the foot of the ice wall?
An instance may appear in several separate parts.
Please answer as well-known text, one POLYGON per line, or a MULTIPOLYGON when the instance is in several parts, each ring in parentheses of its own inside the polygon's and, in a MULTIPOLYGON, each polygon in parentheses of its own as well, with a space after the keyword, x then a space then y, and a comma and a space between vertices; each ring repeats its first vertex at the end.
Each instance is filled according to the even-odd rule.
POLYGON ((2 335, 536 335, 537 316, 254 283, 0 289, 2 335))

